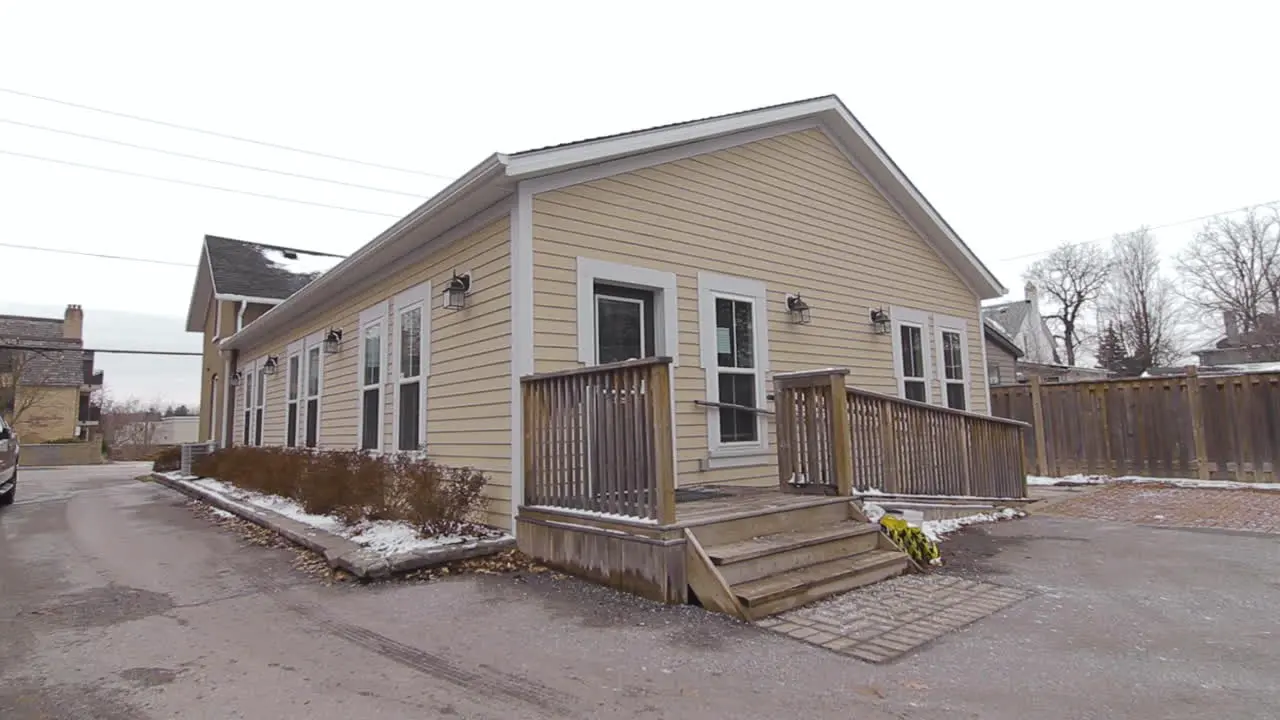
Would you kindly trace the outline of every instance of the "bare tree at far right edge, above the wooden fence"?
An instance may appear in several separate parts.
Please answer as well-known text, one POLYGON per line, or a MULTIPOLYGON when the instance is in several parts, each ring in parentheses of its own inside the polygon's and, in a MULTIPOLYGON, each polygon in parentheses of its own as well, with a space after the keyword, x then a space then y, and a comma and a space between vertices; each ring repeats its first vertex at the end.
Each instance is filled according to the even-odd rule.
POLYGON ((1178 256, 1181 295, 1213 327, 1230 313, 1243 332, 1280 310, 1280 215, 1249 210, 1210 220, 1178 256))

